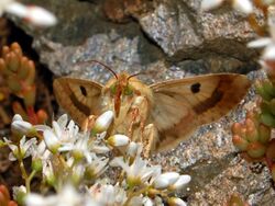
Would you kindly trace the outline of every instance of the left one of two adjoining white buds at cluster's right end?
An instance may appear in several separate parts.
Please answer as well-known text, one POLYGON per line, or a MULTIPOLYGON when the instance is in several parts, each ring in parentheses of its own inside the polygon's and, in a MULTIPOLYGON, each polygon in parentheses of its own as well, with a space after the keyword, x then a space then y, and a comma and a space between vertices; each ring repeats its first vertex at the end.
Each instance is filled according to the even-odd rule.
POLYGON ((154 180, 154 187, 160 190, 166 188, 169 185, 176 183, 178 179, 179 174, 177 172, 163 173, 154 180))

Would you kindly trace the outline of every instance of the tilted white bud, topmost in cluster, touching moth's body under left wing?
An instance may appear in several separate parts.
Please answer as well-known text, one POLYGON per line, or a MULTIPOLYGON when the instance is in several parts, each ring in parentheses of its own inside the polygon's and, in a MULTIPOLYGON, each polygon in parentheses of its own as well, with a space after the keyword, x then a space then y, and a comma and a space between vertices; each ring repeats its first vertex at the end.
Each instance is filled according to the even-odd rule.
POLYGON ((101 114, 95 123, 92 133, 99 134, 99 133, 106 131, 111 125, 113 117, 114 117, 114 114, 112 111, 107 111, 103 114, 101 114))

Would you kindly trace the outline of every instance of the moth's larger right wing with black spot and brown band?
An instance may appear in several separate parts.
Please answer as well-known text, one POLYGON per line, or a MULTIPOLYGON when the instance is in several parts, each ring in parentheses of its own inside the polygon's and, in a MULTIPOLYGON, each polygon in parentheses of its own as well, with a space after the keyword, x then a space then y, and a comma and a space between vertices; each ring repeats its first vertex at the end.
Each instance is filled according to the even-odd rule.
POLYGON ((198 126, 219 119, 245 95, 242 75, 207 75, 151 85, 154 107, 150 121, 158 130, 156 151, 175 147, 198 126))

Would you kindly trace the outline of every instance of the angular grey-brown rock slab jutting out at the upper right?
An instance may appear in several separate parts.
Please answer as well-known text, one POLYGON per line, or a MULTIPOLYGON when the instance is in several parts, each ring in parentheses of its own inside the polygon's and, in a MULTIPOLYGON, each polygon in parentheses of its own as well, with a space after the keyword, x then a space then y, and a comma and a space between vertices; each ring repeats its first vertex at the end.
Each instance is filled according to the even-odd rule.
POLYGON ((216 53, 244 60, 255 55, 245 47, 255 34, 244 16, 229 8, 210 13, 200 10, 199 0, 160 0, 139 21, 169 57, 194 59, 216 53))

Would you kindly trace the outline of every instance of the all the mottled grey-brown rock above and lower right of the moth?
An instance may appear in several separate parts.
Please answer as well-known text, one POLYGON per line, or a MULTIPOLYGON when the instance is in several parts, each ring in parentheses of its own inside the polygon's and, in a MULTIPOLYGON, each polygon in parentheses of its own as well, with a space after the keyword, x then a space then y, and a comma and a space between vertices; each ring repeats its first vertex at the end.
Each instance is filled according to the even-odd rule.
MULTIPOLYGON (((228 7, 202 13, 199 0, 155 0, 152 10, 116 24, 102 13, 101 2, 37 1, 56 12, 59 24, 43 32, 24 30, 34 36, 41 61, 56 76, 106 82, 111 73, 84 64, 90 59, 116 72, 142 71, 145 75, 139 78, 146 83, 209 72, 246 73, 256 67, 252 60, 256 53, 245 47, 254 34, 243 16, 228 7)), ((250 76, 256 79, 262 73, 250 76)), ((275 202, 267 169, 252 172, 251 163, 239 157, 231 142, 230 125, 244 117, 244 108, 254 105, 253 101, 251 91, 229 116, 204 126, 173 151, 153 157, 166 169, 193 176, 189 187, 179 193, 189 205, 224 205, 233 192, 252 205, 275 202)))

